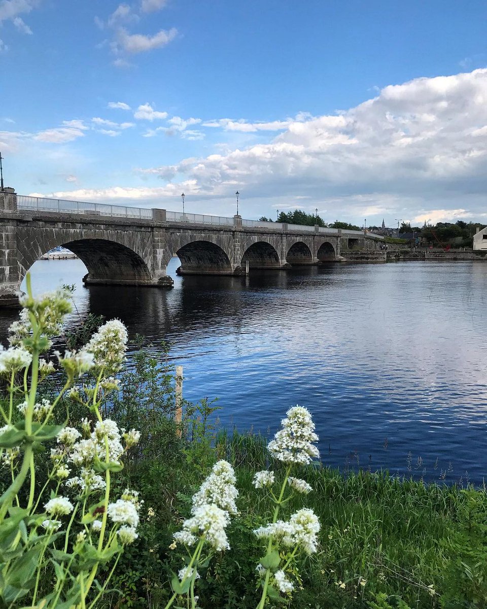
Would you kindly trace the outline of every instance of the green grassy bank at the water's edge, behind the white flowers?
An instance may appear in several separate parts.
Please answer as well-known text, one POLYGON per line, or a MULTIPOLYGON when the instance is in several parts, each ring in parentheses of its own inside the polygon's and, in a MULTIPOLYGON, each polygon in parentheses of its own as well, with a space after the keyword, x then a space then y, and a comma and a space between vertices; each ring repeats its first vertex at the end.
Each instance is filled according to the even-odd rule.
MULTIPOLYGON (((254 569, 262 546, 251 530, 268 522, 271 506, 252 478, 268 466, 265 444, 256 435, 224 433, 215 448, 203 438, 176 442, 170 456, 166 452, 160 459, 144 460, 125 473, 124 484, 141 489, 145 507, 155 516, 145 519, 138 543, 122 559, 116 580, 122 597, 114 596, 112 606, 164 607, 170 572, 181 562, 178 552, 169 549, 171 533, 189 515, 192 493, 217 458, 236 467, 240 515, 229 529, 232 549, 212 562, 198 582, 199 604, 203 609, 256 606, 254 569)), ((314 491, 293 500, 284 518, 306 504, 322 528, 320 551, 301 565, 302 586, 290 607, 440 607, 440 597, 457 595, 457 589, 457 600, 447 604, 444 596, 441 606, 486 606, 468 600, 475 594, 469 586, 476 584, 468 583, 477 577, 473 565, 486 549, 485 491, 368 471, 344 476, 322 466, 308 466, 296 475, 314 491), (472 546, 469 535, 479 547, 472 546), (461 561, 464 565, 458 566, 461 561)))

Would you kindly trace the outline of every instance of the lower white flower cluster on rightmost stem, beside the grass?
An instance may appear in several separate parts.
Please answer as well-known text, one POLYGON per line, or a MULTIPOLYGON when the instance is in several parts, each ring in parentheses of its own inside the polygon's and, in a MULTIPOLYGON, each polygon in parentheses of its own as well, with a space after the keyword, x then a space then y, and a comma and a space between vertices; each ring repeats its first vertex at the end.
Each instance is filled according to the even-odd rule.
POLYGON ((303 508, 295 512, 289 521, 278 520, 254 530, 259 539, 273 537, 286 547, 298 547, 306 554, 317 551, 317 534, 320 531, 320 521, 313 510, 303 508))

